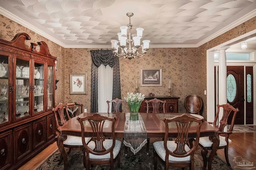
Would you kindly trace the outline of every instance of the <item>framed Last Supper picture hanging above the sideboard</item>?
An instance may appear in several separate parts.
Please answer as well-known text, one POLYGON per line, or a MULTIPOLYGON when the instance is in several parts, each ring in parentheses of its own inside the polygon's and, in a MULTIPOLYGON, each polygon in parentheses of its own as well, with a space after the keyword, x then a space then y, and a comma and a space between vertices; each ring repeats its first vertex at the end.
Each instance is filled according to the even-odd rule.
POLYGON ((141 86, 162 86, 162 68, 142 68, 141 86))

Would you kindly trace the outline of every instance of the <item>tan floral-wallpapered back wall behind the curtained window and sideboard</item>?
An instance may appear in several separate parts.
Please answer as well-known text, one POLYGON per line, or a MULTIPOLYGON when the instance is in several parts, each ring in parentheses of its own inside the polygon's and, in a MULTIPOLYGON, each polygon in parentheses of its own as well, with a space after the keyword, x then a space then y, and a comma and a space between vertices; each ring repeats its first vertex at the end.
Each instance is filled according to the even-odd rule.
MULTIPOLYGON (((91 98, 91 49, 66 49, 65 102, 84 104, 90 111, 91 98), (87 95, 69 94, 69 74, 87 74, 87 95)), ((135 80, 141 82, 141 68, 162 68, 162 86, 139 86, 142 94, 168 95, 169 79, 172 80, 172 96, 178 96, 179 112, 184 112, 184 99, 197 93, 197 49, 196 48, 151 48, 142 58, 119 58, 122 99, 127 92, 135 92, 135 80)), ((140 83, 139 83, 140 84, 140 83)), ((111 99, 110 99, 111 100, 111 99)), ((106 103, 107 105, 107 103, 106 103)))

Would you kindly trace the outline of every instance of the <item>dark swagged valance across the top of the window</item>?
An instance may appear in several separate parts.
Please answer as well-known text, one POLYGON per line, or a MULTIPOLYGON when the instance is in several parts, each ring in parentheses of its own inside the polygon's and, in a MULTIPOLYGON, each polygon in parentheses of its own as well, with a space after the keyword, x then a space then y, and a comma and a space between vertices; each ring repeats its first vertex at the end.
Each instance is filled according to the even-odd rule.
POLYGON ((99 67, 101 64, 104 66, 109 65, 111 68, 113 68, 114 64, 116 63, 116 60, 118 57, 114 56, 112 50, 91 50, 92 55, 92 63, 96 67, 99 67))

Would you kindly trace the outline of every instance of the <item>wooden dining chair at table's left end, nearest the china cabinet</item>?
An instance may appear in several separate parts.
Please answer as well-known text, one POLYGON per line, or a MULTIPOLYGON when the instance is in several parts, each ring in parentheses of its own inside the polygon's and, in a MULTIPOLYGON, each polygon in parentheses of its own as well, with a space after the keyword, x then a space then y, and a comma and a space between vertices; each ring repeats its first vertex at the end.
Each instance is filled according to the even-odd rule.
MULTIPOLYGON (((55 120, 56 120, 56 126, 61 127, 70 119, 70 116, 68 114, 68 105, 59 103, 55 108, 52 109, 55 120), (65 111, 64 111, 65 110, 65 111)), ((86 137, 84 140, 88 143, 90 141, 90 137, 86 137)), ((58 145, 58 142, 57 142, 58 145)), ((70 153, 72 148, 82 148, 83 143, 82 143, 82 138, 81 137, 76 137, 76 136, 71 136, 67 135, 67 139, 63 142, 64 147, 69 148, 68 154, 70 153)), ((58 146, 59 148, 59 146, 58 146)), ((62 161, 62 156, 60 155, 60 162, 59 165, 62 161)))

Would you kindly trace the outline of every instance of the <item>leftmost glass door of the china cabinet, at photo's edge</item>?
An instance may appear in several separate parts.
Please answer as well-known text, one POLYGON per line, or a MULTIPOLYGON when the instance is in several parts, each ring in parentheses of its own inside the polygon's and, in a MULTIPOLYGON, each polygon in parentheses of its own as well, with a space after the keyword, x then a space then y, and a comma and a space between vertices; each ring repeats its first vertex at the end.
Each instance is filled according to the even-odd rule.
POLYGON ((0 124, 9 121, 8 57, 0 55, 0 124))

